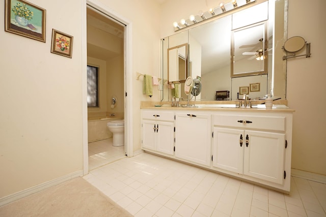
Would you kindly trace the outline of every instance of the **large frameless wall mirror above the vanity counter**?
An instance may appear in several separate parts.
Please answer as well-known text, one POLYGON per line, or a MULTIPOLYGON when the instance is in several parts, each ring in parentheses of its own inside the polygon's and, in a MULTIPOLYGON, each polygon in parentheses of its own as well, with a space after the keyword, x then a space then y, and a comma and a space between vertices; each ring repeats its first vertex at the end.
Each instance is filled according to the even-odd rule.
MULTIPOLYGON (((184 43, 188 43, 189 76, 193 78, 201 76, 202 78, 202 91, 197 97, 198 100, 213 101, 216 99, 216 91, 222 90, 230 90, 228 100, 236 100, 239 86, 250 86, 252 83, 260 83, 260 91, 249 92, 251 99, 267 94, 286 99, 286 61, 282 60, 284 55, 282 46, 287 38, 286 14, 287 0, 268 0, 268 2, 253 4, 252 7, 236 11, 233 14, 212 18, 210 22, 188 27, 188 30, 185 29, 183 32, 165 38, 162 46, 163 59, 166 59, 165 65, 162 65, 162 77, 165 79, 164 100, 171 100, 172 96, 167 80, 167 49, 184 43), (248 19, 248 13, 255 15, 255 22, 248 19), (264 21, 266 17, 268 17, 268 40, 265 37, 264 46, 267 46, 268 50, 266 53, 268 55, 268 64, 266 64, 268 74, 231 78, 232 26, 233 29, 239 29, 244 25, 264 21), (238 23, 239 20, 246 21, 246 23, 244 25, 243 22, 238 23)), ((251 44, 259 43, 261 38, 257 38, 256 42, 251 44)), ((181 83, 181 85, 183 84, 181 83)), ((183 89, 183 86, 180 89, 183 89)))

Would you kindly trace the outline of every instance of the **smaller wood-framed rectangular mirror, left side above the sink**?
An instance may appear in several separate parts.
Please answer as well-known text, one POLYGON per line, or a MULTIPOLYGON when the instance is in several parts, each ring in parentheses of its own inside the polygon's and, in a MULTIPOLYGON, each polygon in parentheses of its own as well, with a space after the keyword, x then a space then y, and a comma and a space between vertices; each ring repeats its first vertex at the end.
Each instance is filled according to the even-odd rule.
POLYGON ((181 44, 168 49, 169 84, 183 83, 187 77, 188 44, 181 44))

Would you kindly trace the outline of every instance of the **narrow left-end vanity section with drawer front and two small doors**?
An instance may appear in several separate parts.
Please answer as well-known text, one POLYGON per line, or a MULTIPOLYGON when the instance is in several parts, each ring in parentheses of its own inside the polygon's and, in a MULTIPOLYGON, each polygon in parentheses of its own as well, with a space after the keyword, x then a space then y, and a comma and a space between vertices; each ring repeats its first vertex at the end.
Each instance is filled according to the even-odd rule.
POLYGON ((173 111, 142 110, 142 148, 173 155, 173 111))

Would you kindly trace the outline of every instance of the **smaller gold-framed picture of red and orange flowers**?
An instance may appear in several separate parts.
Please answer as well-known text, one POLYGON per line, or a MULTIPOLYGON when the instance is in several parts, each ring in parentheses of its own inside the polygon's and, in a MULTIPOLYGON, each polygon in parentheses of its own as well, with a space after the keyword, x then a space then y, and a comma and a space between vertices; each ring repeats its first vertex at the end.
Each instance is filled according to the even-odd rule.
POLYGON ((51 53, 72 57, 73 37, 52 29, 51 53))

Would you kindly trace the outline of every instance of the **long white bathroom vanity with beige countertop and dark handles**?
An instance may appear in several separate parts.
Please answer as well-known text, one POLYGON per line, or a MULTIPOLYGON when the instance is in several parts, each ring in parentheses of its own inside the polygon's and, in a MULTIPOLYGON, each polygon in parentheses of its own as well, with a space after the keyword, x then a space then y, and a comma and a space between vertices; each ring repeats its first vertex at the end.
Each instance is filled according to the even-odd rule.
POLYGON ((144 106, 142 149, 289 193, 292 113, 286 106, 144 106))

